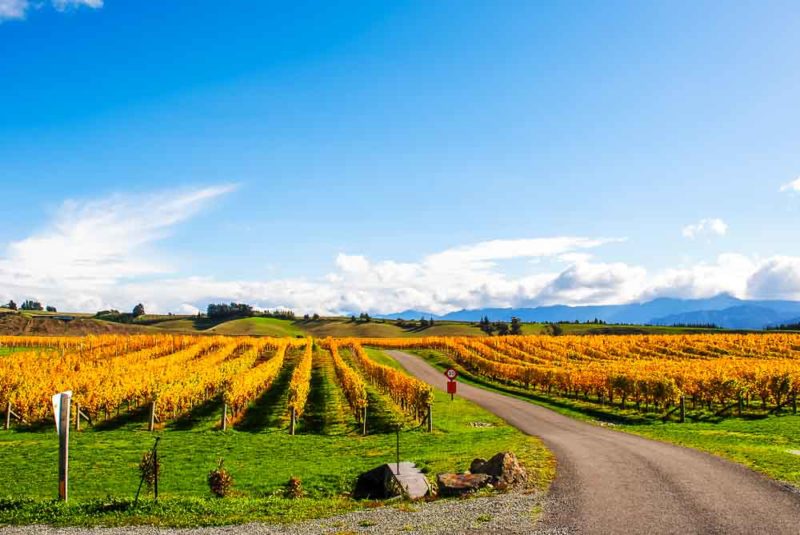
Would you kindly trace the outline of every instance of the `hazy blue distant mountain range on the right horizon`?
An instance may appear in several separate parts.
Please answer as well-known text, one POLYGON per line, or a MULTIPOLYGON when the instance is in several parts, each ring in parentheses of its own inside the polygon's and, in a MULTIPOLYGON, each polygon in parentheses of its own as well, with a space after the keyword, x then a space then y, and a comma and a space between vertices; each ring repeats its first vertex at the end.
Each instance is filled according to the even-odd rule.
POLYGON ((658 298, 627 305, 567 306, 553 305, 535 308, 480 308, 459 310, 443 316, 419 310, 378 316, 386 319, 417 319, 433 317, 439 320, 510 321, 517 317, 525 322, 591 321, 638 325, 709 324, 728 329, 763 329, 770 325, 800 321, 800 301, 756 301, 720 294, 706 299, 658 298))

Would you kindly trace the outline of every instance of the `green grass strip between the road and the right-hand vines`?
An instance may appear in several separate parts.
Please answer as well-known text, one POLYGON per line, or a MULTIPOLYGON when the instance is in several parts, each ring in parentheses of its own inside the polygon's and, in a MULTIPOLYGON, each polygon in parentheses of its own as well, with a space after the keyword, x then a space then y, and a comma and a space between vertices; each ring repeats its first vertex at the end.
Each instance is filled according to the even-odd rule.
POLYGON ((642 413, 618 405, 601 406, 583 399, 548 395, 541 391, 492 382, 471 374, 438 351, 411 351, 435 367, 452 366, 459 380, 531 401, 576 419, 603 422, 620 431, 671 442, 719 455, 748 466, 773 479, 800 487, 800 415, 750 414, 743 417, 714 417, 700 411, 696 421, 664 422, 662 413, 642 413))

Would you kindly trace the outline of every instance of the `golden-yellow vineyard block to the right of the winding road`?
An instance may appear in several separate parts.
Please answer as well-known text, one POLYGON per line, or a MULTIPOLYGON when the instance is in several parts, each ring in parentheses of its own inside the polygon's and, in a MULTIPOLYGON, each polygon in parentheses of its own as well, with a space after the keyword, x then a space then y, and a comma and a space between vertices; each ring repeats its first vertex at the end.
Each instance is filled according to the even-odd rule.
POLYGON ((668 409, 688 400, 717 414, 797 411, 800 335, 507 336, 361 340, 435 349, 479 377, 598 403, 668 409), (754 403, 755 402, 755 403, 754 403))

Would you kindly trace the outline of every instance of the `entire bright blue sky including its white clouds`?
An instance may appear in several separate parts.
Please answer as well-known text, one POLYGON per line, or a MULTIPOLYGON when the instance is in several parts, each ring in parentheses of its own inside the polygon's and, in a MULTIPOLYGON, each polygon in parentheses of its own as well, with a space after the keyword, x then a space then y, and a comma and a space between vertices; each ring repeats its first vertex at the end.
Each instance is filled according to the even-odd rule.
POLYGON ((0 300, 800 298, 791 2, 0 0, 0 300))

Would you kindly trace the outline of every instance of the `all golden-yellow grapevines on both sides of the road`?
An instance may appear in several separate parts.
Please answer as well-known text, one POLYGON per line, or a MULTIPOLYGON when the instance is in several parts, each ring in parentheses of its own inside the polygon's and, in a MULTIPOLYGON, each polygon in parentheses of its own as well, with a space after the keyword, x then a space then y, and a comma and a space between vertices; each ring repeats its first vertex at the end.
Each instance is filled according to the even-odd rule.
POLYGON ((374 361, 364 346, 433 349, 494 382, 644 411, 686 401, 720 413, 789 404, 796 410, 800 388, 800 336, 794 334, 316 341, 159 334, 0 337, 0 347, 15 349, 0 360, 0 403, 20 421, 40 422, 50 417, 50 396, 72 390, 90 421, 149 408, 152 422, 167 422, 221 400, 225 428, 240 422, 291 366, 284 401, 294 432, 309 398, 312 365, 326 352, 324 362, 363 430, 368 392, 400 419, 424 422, 431 388, 374 361))

